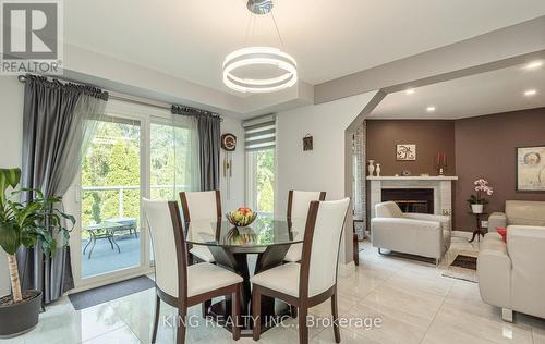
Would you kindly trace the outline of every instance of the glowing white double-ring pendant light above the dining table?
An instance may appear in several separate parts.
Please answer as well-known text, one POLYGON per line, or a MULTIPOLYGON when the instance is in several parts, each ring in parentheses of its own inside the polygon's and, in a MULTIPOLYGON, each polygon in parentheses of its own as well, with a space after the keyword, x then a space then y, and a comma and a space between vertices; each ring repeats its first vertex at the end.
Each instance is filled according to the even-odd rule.
POLYGON ((223 62, 223 83, 242 93, 267 93, 291 87, 298 82, 295 60, 276 48, 251 47, 230 53, 223 62), (245 66, 270 65, 286 73, 270 78, 242 78, 233 74, 245 66))

